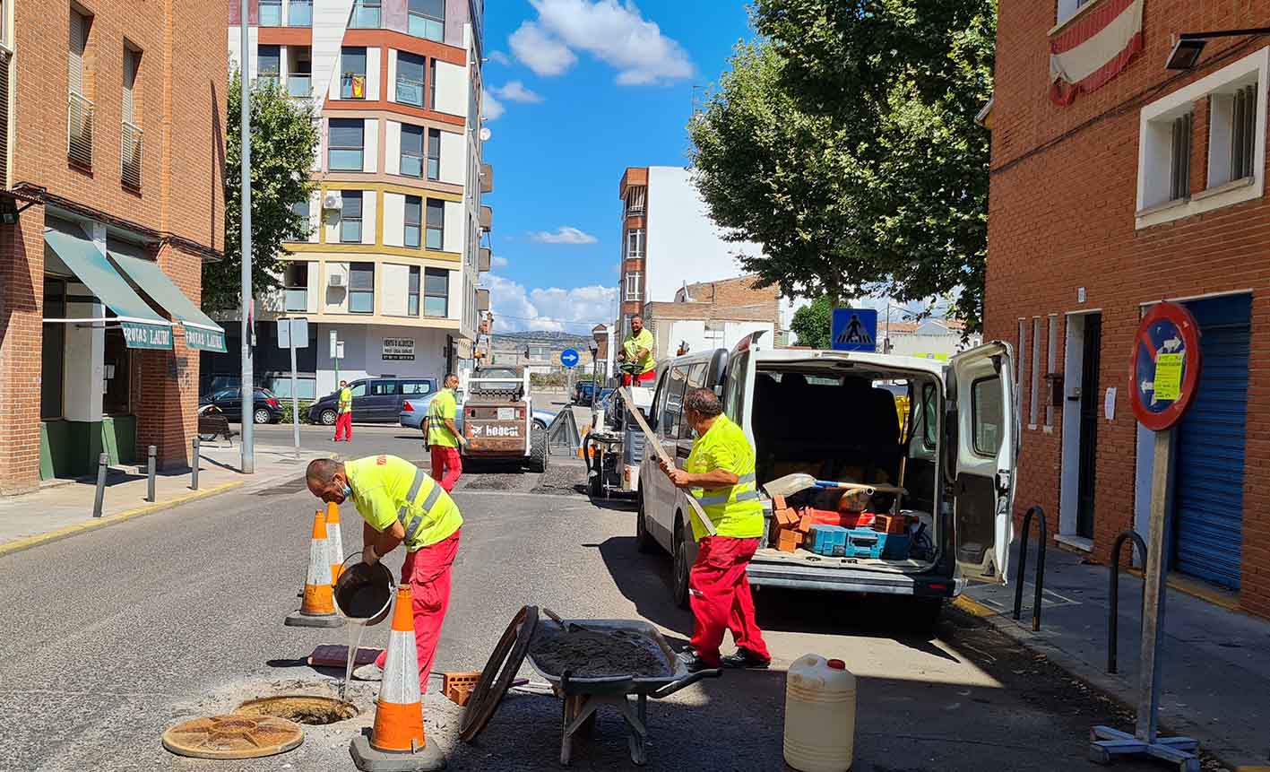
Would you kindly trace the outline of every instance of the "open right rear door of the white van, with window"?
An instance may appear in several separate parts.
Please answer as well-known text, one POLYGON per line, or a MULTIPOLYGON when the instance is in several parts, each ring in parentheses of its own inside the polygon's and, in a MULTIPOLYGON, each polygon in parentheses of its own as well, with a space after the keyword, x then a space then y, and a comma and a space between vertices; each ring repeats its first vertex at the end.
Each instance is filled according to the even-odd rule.
POLYGON ((996 342, 952 357, 950 366, 956 560, 965 579, 1003 584, 1019 460, 1013 356, 996 342))

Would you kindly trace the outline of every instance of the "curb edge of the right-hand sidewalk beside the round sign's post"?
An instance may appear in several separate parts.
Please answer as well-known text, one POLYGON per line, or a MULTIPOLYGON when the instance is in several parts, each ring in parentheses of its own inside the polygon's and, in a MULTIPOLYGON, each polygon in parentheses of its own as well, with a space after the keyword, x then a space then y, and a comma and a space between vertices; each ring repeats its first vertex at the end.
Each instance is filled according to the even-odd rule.
MULTIPOLYGON (((1066 670, 1072 678, 1085 683, 1091 689, 1102 692, 1109 698, 1123 703, 1130 710, 1135 709, 1137 684, 1130 683, 1123 676, 1111 676, 1096 665, 1072 656, 1058 646, 1038 639, 1036 634, 1017 625, 1008 613, 989 608, 965 594, 959 596, 952 602, 952 606, 991 625, 994 630, 1019 642, 1029 651, 1045 656, 1066 670)), ((1167 729, 1168 734, 1195 738, 1199 740, 1200 750, 1217 758, 1227 769, 1233 772, 1270 772, 1270 766, 1264 766, 1264 762, 1255 755, 1255 749, 1241 748, 1231 744, 1231 740, 1213 738, 1203 724, 1198 724, 1186 716, 1161 709, 1160 726, 1162 731, 1167 729)))

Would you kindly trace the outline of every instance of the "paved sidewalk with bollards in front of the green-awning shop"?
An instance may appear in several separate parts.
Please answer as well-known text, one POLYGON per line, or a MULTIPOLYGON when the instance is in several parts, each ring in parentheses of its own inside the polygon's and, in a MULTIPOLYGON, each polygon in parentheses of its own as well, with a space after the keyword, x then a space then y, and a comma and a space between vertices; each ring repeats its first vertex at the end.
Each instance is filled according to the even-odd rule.
POLYGON ((224 439, 204 442, 199 449, 198 490, 190 489, 190 469, 155 475, 155 502, 146 500, 146 465, 112 466, 105 479, 102 517, 93 517, 97 476, 80 480, 50 480, 39 490, 0 498, 0 555, 65 538, 80 531, 161 512, 244 486, 262 486, 292 480, 304 474, 311 458, 331 452, 290 447, 257 446, 255 474, 241 472, 241 446, 224 439))

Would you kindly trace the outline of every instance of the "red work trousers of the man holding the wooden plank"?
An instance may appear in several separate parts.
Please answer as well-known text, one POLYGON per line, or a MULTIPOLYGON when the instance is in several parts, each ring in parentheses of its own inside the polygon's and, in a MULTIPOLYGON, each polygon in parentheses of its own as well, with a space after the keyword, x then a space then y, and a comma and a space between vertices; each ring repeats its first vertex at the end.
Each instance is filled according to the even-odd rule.
POLYGON ((707 536, 697 547, 697 561, 688 573, 688 604, 696 618, 692 648, 707 667, 718 668, 723 631, 732 630, 738 649, 771 659, 763 631, 754 621, 754 598, 745 578, 758 540, 707 536))

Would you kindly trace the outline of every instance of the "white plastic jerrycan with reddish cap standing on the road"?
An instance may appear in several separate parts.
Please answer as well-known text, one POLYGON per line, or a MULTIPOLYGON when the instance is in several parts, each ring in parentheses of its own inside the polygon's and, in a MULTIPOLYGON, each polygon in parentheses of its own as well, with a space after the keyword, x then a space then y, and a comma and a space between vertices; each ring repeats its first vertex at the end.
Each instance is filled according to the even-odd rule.
POLYGON ((800 656, 785 678, 785 763, 846 772, 856 742, 856 677, 841 659, 800 656))

